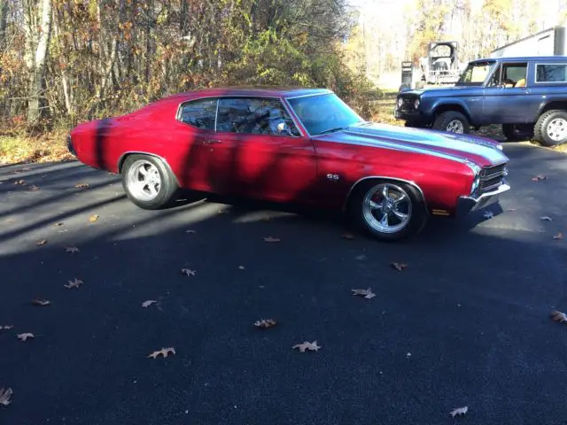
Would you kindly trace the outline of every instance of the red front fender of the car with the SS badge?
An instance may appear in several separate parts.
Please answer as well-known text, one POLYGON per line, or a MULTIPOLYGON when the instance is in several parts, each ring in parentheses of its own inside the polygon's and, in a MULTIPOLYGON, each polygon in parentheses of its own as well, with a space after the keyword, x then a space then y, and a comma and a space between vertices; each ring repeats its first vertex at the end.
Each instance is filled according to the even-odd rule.
POLYGON ((469 195, 473 173, 469 166, 422 153, 373 146, 316 141, 318 174, 326 180, 322 201, 333 208, 344 205, 349 191, 365 177, 380 176, 414 182, 423 191, 428 210, 454 212, 457 198, 469 195), (326 179, 338 174, 337 182, 326 179))

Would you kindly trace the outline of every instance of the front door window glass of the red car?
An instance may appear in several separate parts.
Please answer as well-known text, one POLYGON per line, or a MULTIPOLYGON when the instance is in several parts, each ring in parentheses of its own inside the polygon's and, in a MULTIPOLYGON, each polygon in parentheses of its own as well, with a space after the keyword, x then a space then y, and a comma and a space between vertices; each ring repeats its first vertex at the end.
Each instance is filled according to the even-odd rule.
POLYGON ((300 135, 279 99, 256 97, 219 99, 216 130, 250 135, 300 135))

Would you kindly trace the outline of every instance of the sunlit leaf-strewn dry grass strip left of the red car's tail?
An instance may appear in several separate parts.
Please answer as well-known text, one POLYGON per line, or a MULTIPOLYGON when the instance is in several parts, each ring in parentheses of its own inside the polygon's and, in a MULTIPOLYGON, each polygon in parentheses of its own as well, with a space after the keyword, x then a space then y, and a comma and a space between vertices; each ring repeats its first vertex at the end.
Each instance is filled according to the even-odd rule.
POLYGON ((0 135, 0 164, 54 162, 71 159, 66 148, 66 131, 39 136, 0 135))

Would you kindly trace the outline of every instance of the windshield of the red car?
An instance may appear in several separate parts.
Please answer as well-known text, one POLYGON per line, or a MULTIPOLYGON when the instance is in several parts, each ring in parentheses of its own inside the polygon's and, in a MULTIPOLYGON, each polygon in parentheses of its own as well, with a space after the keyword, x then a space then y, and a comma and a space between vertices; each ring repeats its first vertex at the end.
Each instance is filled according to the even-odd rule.
POLYGON ((309 135, 321 135, 353 126, 363 120, 337 95, 295 97, 288 102, 309 135))

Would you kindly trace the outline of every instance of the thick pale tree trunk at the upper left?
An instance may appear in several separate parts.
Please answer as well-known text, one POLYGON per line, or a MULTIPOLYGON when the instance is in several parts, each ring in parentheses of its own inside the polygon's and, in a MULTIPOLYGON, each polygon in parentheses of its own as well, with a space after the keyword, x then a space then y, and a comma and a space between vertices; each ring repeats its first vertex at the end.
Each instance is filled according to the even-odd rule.
MULTIPOLYGON (((51 0, 40 0, 41 4, 41 21, 39 27, 29 26, 28 46, 32 47, 35 44, 35 51, 28 52, 31 57, 30 69, 30 87, 29 87, 29 100, 27 101, 27 124, 35 126, 40 120, 45 111, 45 69, 46 60, 49 53, 49 43, 51 34, 51 0)), ((36 5, 39 7, 39 4, 36 5)), ((31 5, 30 5, 31 9, 31 5)), ((29 11, 30 18, 34 11, 29 11)), ((37 13, 39 16, 40 13, 37 13)), ((35 19, 29 19, 33 22, 35 19)))

